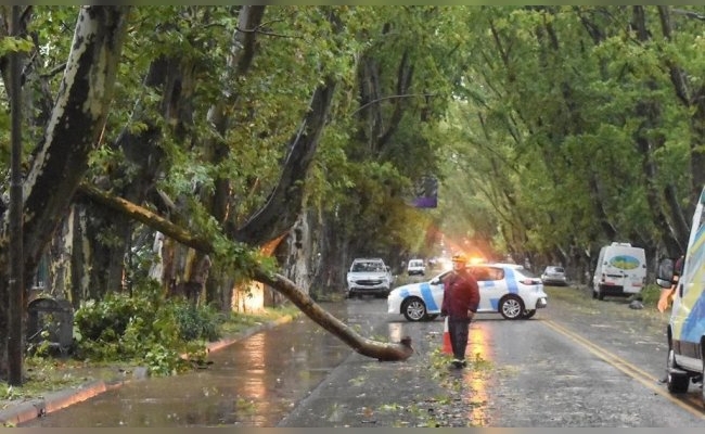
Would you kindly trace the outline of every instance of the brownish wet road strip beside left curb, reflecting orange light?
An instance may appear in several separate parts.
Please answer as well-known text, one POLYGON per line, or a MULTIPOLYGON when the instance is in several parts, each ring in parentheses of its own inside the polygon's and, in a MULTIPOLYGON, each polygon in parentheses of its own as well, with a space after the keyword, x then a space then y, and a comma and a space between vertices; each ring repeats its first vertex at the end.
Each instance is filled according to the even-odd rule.
POLYGON ((22 426, 273 426, 350 354, 311 324, 302 316, 211 353, 206 369, 132 381, 22 426))

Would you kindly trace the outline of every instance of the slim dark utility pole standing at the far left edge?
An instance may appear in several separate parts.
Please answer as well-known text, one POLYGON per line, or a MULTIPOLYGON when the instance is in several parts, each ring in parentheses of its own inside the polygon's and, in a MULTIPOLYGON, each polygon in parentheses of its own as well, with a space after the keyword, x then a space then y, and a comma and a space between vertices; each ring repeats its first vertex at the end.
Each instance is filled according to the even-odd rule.
MULTIPOLYGON (((20 36, 20 7, 12 7, 11 37, 20 36)), ((24 353, 24 248, 22 231, 22 84, 20 81, 20 52, 10 53, 10 107, 12 114, 12 164, 10 182, 10 297, 8 303, 8 383, 23 383, 24 353)))

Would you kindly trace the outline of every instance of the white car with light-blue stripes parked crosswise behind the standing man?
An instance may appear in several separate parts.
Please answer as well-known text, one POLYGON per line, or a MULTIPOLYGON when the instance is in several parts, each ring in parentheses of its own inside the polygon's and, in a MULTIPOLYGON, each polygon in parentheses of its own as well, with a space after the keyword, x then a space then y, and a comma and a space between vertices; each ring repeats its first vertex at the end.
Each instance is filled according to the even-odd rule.
MULTIPOLYGON (((521 265, 479 264, 467 269, 479 286, 478 312, 498 312, 505 319, 528 319, 548 306, 541 279, 521 265)), ((387 312, 409 321, 431 321, 440 315, 444 271, 427 282, 395 288, 387 296, 387 312)))

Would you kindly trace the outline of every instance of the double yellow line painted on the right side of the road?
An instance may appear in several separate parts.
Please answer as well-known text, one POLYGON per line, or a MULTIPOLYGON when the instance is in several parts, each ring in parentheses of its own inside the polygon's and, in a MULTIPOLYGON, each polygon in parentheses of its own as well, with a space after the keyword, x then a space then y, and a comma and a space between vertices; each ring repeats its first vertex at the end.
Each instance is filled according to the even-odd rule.
MULTIPOLYGON (((696 416, 701 419, 705 419, 705 414, 703 413, 703 410, 700 408, 695 407, 695 404, 693 401, 689 403, 683 399, 679 399, 675 396, 672 396, 666 388, 658 386, 655 384, 657 379, 654 379, 642 370, 641 368, 628 362, 627 360, 623 359, 621 357, 617 356, 616 354, 613 354, 599 345, 593 344, 592 342, 588 341, 587 339, 580 336, 579 334, 562 327, 559 326, 557 323, 551 321, 551 320, 543 320, 541 321, 542 324, 548 326, 549 328, 553 329, 554 331, 569 337, 571 340, 575 341, 576 343, 582 345, 586 347, 590 353, 594 354, 595 356, 600 357, 607 363, 612 365, 613 367, 617 368, 621 372, 626 373, 627 375, 631 376, 632 379, 637 380, 654 393, 663 396, 664 398, 668 399, 672 404, 677 405, 678 407, 682 408, 683 410, 689 411, 691 414, 696 416)), ((702 404, 701 404, 702 405, 702 404)))

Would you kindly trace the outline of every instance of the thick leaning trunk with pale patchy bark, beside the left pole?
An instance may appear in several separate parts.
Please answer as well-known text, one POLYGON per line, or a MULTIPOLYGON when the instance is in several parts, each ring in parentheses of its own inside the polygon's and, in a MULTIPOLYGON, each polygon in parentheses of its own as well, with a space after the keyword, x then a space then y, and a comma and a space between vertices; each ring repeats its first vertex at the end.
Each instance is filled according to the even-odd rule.
MULTIPOLYGON (((47 130, 24 183, 24 281, 67 214, 90 151, 100 142, 120 58, 129 7, 81 7, 72 51, 47 130)), ((5 219, 7 221, 7 219, 5 219)), ((8 226, 2 227, 0 270, 7 270, 8 226)), ((8 371, 8 282, 0 280, 0 374, 8 371)))

